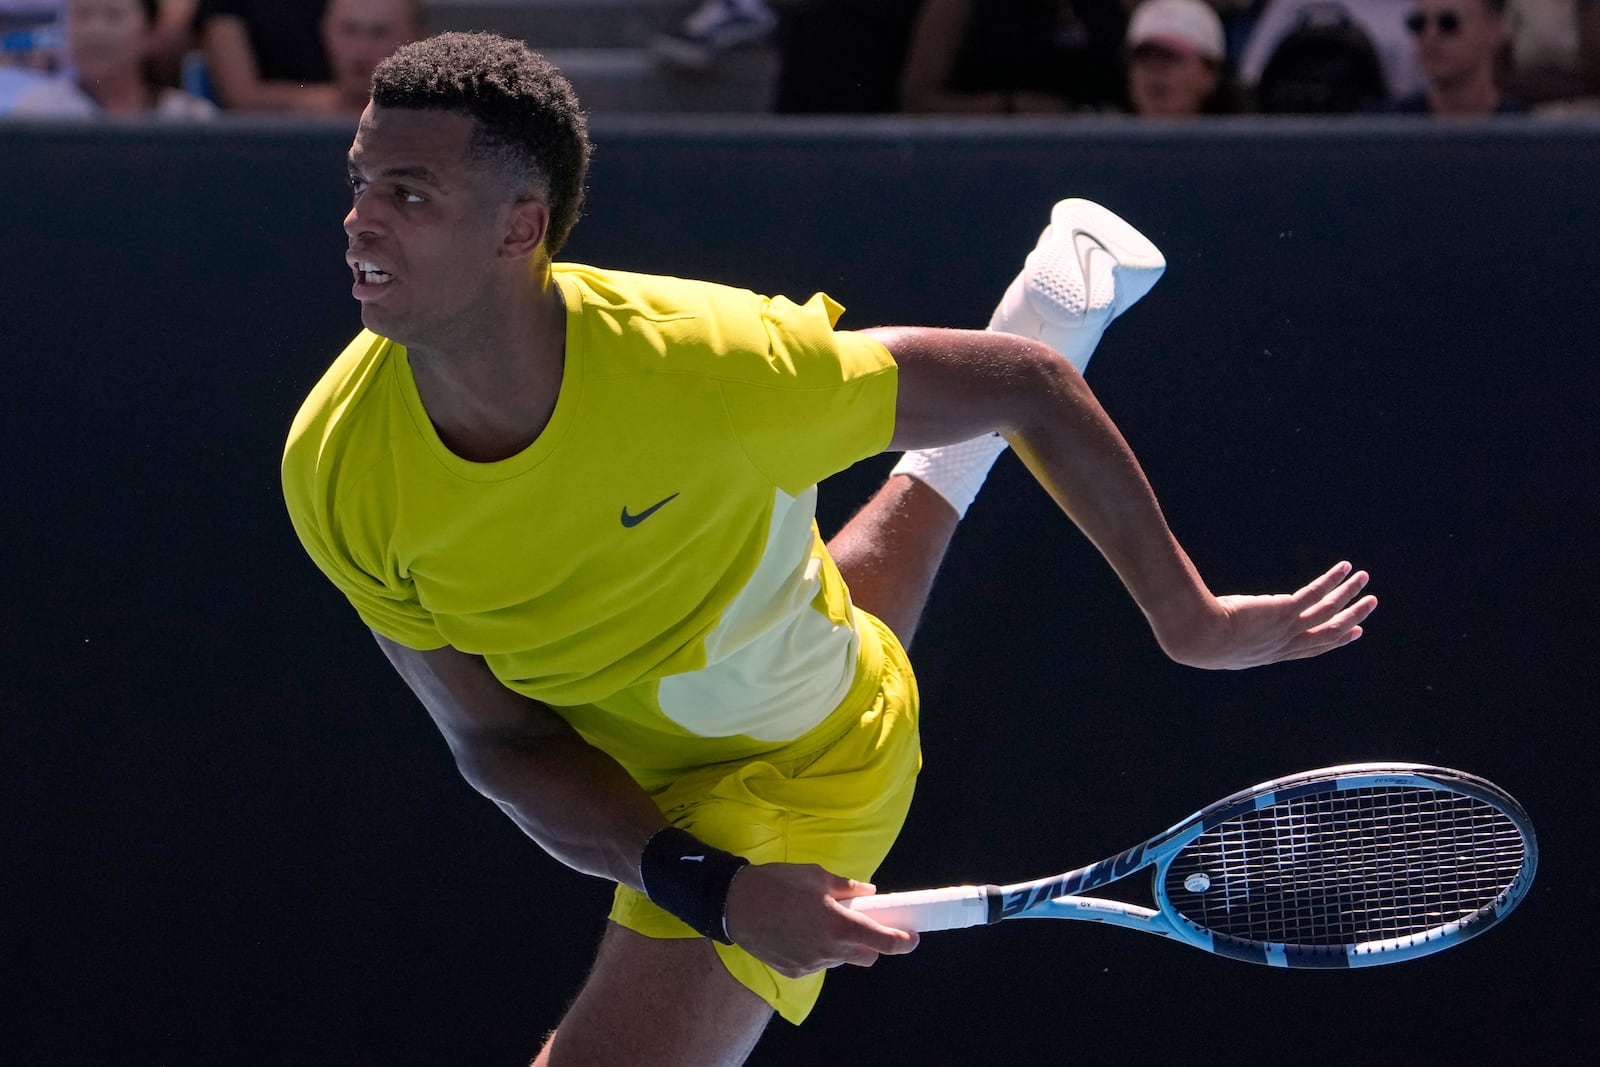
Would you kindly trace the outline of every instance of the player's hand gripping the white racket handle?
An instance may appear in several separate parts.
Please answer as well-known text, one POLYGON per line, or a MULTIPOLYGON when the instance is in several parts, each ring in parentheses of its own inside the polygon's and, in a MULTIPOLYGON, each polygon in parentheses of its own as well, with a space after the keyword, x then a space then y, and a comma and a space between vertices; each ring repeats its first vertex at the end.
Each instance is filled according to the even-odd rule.
POLYGON ((728 936, 786 977, 843 963, 872 966, 880 955, 915 949, 917 934, 838 904, 872 893, 874 886, 816 864, 750 864, 728 886, 728 936))

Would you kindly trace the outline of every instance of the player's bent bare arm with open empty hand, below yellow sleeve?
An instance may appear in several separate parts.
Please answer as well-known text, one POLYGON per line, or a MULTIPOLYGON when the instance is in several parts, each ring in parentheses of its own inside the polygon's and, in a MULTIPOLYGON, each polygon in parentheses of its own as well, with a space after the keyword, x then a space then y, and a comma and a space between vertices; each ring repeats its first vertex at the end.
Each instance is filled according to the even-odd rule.
POLYGON ((1362 635, 1378 601, 1338 563, 1294 593, 1216 597, 1166 526, 1133 450, 1083 376, 1048 346, 1002 333, 870 331, 899 365, 891 448, 998 430, 1094 542, 1162 648, 1194 667, 1304 659, 1362 635))

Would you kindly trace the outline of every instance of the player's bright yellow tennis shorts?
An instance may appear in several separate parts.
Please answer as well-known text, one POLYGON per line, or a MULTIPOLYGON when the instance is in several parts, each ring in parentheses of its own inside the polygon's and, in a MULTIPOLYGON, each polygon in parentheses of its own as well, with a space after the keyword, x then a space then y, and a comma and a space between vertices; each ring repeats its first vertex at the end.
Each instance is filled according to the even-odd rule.
MULTIPOLYGON (((906 649, 878 619, 856 611, 861 656, 850 696, 827 721, 768 758, 694 771, 651 790, 667 821, 752 864, 819 864, 869 881, 899 835, 922 769, 917 681, 906 649)), ((627 886, 611 920, 646 937, 698 937, 627 886)), ((784 977, 738 945, 723 966, 789 1022, 810 1014, 824 973, 784 977)))

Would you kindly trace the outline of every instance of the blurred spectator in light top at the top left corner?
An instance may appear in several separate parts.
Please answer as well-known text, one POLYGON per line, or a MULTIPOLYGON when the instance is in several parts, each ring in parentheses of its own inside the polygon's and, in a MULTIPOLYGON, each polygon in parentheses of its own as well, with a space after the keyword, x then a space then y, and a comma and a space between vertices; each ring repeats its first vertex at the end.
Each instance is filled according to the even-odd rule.
POLYGON ((66 56, 70 72, 16 99, 18 117, 94 118, 154 115, 208 118, 210 101, 150 78, 158 45, 157 0, 67 0, 66 56))

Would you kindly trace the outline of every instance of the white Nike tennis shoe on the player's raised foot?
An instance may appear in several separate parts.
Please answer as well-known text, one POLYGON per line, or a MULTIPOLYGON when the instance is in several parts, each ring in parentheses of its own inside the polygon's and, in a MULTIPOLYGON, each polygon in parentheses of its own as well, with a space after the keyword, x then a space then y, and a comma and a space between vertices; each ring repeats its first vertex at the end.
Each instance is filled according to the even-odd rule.
POLYGON ((1106 328, 1166 270, 1162 250, 1090 200, 1061 200, 989 320, 1043 341, 1083 371, 1106 328))

